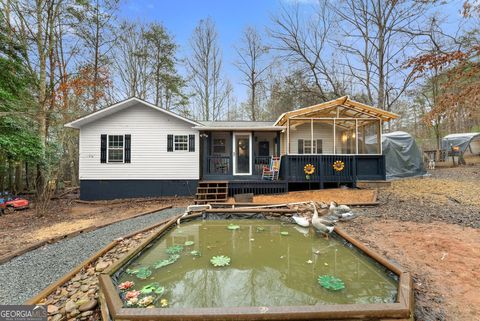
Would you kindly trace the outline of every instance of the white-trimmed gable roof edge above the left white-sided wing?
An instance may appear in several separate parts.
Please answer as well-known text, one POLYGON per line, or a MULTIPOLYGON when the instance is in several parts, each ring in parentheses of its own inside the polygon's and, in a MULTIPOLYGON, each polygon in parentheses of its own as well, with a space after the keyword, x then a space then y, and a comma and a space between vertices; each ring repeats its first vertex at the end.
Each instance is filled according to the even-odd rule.
POLYGON ((93 113, 90 113, 88 115, 85 115, 83 117, 80 117, 74 121, 71 121, 67 124, 65 124, 64 126, 65 127, 70 127, 70 128, 80 128, 86 124, 89 124, 91 122, 94 122, 96 120, 99 120, 103 117, 106 117, 106 116, 109 116, 109 115, 112 115, 116 112, 119 112, 121 110, 124 110, 126 108, 129 108, 131 106, 134 106, 136 104, 142 104, 146 107, 149 107, 149 108, 152 108, 156 111, 159 111, 159 112, 162 112, 162 113, 165 113, 169 116, 172 116, 172 117, 175 117, 177 119, 180 119, 184 122, 187 122, 187 123, 190 123, 194 126, 201 126, 199 123, 197 123, 196 121, 193 121, 191 119, 188 119, 186 117, 183 117, 183 116, 180 116, 180 115, 177 115, 169 110, 166 110, 166 109, 163 109, 163 108, 160 108, 158 106, 155 106, 154 104, 151 104, 149 102, 146 102, 145 100, 143 99, 140 99, 140 98, 137 98, 137 97, 131 97, 131 98, 128 98, 128 99, 125 99, 123 101, 120 101, 116 104, 113 104, 109 107, 105 107, 103 109, 100 109, 100 110, 97 110, 93 113))

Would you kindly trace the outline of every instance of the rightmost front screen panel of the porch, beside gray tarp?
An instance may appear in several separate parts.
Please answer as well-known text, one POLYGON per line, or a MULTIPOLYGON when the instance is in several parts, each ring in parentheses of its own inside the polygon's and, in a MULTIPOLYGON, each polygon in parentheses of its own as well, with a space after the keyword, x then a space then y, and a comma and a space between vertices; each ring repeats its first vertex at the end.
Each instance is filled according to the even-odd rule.
POLYGON ((358 120, 358 153, 380 154, 381 153, 380 120, 358 120))

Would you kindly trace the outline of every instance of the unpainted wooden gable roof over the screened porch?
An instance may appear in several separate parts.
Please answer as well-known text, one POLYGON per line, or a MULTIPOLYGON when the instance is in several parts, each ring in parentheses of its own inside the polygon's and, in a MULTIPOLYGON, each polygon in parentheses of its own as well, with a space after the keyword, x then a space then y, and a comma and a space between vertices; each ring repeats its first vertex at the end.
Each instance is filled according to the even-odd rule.
MULTIPOLYGON (((328 109, 334 110, 335 107, 342 107, 347 110, 352 110, 357 114, 363 114, 369 117, 380 118, 383 121, 390 121, 392 119, 396 119, 399 117, 397 114, 388 112, 380 108, 362 104, 362 103, 359 103, 358 101, 351 100, 348 96, 343 96, 343 97, 330 100, 321 104, 300 108, 297 110, 292 110, 292 111, 283 113, 280 115, 280 117, 278 117, 277 121, 275 122, 275 125, 281 126, 281 125, 284 125, 287 122, 287 120, 290 118, 301 117, 301 116, 307 117, 319 111, 326 111, 328 109)), ((352 117, 352 118, 355 118, 355 117, 352 117)))

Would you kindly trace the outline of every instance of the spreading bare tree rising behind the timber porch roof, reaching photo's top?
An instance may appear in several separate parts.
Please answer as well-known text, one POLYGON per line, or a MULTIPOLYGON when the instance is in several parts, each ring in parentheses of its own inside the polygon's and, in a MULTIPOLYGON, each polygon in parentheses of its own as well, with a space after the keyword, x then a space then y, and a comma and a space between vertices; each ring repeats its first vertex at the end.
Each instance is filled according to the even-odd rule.
POLYGON ((364 88, 368 103, 391 110, 413 82, 405 69, 426 2, 413 0, 345 0, 329 6, 342 35, 337 46, 345 53, 349 72, 364 88))

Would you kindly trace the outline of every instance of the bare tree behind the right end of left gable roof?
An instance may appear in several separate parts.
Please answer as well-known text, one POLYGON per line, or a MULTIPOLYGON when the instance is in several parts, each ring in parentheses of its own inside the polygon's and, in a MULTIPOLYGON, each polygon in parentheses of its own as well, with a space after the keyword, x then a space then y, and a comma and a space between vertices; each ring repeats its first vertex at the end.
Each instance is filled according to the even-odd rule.
POLYGON ((190 46, 192 54, 187 59, 187 66, 194 99, 200 106, 199 116, 204 120, 218 120, 223 117, 229 90, 222 74, 218 33, 210 18, 200 20, 190 46))

